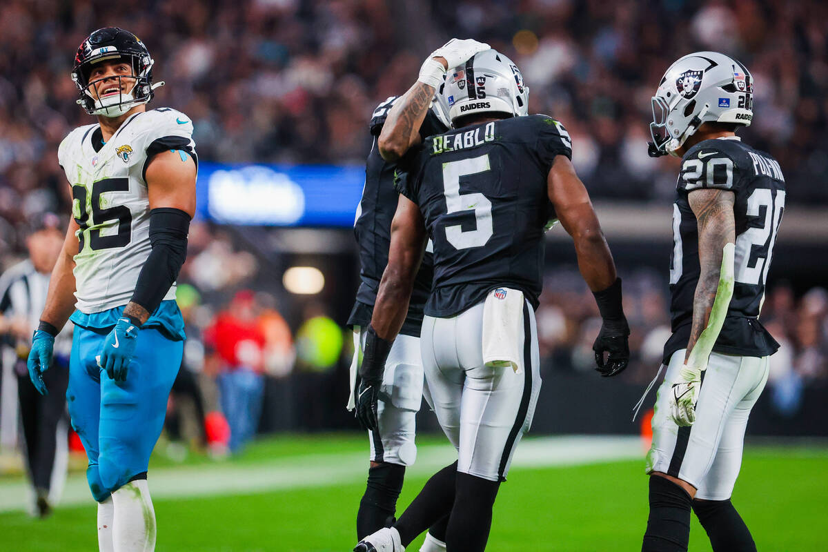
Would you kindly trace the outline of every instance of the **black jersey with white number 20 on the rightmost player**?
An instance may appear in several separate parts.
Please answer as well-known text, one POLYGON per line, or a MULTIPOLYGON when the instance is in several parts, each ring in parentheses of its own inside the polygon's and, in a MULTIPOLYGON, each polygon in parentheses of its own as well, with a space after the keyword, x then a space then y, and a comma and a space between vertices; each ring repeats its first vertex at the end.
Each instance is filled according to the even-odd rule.
POLYGON ((736 195, 736 243, 733 298, 713 350, 763 357, 779 343, 758 321, 773 245, 785 209, 785 179, 779 163, 738 138, 699 142, 681 160, 673 204, 673 252, 670 266, 672 337, 664 362, 686 348, 693 321, 693 296, 699 281, 699 235, 687 194, 702 188, 731 190, 736 195))

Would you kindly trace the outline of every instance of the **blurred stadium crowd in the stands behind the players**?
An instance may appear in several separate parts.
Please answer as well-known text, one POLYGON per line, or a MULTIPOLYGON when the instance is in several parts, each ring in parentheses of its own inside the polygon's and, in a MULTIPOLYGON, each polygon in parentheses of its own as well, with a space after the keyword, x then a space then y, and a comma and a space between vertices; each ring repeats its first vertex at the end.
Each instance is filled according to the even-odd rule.
MULTIPOLYGON (((729 3, 5 0, 0 267, 22 258, 31 218, 70 211, 55 152, 72 127, 92 120, 76 105, 69 74, 80 41, 103 25, 123 26, 147 44, 156 81, 168 83, 153 104, 187 113, 200 158, 226 162, 362 163, 368 115, 380 100, 404 91, 428 51, 450 36, 486 40, 522 67, 530 111, 565 122, 573 161, 594 198, 662 203, 672 199, 676 166, 647 156, 649 98, 666 60, 693 50, 724 50, 744 61, 755 81, 758 116, 744 137, 772 152, 795 183, 789 203, 828 205, 828 4, 729 3)), ((181 281, 204 295, 189 298, 199 305, 188 320, 195 371, 211 370, 210 351, 221 346, 210 343, 209 329, 225 303, 233 310, 233 293, 257 281, 262 270, 221 228, 192 227, 181 281), (205 343, 206 357, 198 353, 199 343, 205 343)), ((624 377, 631 381, 647 382, 661 356, 669 331, 664 278, 641 271, 625 281, 635 360, 624 377)), ((599 324, 594 301, 568 271, 548 274, 546 290, 538 326, 547 367, 587 369, 590 336, 599 324)), ((244 316, 277 313, 277 298, 259 299, 256 308, 267 312, 244 316)), ((777 286, 765 310, 763 320, 783 345, 772 383, 786 386, 790 395, 803 382, 825 380, 826 291, 797 299, 787 286, 777 286)), ((305 362, 308 372, 320 370, 302 358, 301 326, 319 316, 286 315, 291 334, 300 334, 296 362, 305 362)), ((295 338, 272 331, 277 345, 267 347, 277 353, 257 363, 255 372, 285 377, 295 338)), ((349 354, 349 339, 344 343, 341 359, 349 354)), ((220 376, 232 363, 224 360, 224 368, 210 373, 220 376)))

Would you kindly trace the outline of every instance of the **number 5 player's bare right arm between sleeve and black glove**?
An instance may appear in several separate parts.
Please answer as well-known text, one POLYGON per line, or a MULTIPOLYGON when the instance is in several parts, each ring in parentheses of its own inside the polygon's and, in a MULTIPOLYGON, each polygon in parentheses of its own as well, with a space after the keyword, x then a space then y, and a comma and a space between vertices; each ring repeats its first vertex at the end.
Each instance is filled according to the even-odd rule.
POLYGON ((590 290, 612 286, 617 275, 613 255, 584 184, 566 156, 556 156, 547 179, 549 200, 575 243, 578 269, 590 290))

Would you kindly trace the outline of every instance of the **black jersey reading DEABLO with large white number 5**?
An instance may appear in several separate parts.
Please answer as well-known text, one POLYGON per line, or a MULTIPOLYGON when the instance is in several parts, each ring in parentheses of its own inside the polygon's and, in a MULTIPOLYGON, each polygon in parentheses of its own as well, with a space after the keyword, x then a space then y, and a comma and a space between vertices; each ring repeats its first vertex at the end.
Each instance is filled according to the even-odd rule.
POLYGON ((419 205, 434 244, 429 316, 458 314, 504 286, 537 308, 546 180, 569 134, 546 115, 508 118, 429 137, 406 159, 397 190, 419 205))

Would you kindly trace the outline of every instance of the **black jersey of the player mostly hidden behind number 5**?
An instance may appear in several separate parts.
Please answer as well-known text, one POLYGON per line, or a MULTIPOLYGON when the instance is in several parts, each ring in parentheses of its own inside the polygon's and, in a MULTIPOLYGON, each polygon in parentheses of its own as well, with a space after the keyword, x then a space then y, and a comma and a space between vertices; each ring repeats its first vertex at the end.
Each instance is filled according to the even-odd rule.
MULTIPOLYGON (((397 211, 398 192, 394 189, 394 171, 397 163, 388 163, 379 155, 377 137, 383 130, 383 124, 388 117, 397 96, 388 98, 374 110, 369 123, 369 130, 373 137, 371 152, 365 163, 365 186, 363 196, 359 201, 356 221, 354 222, 354 236, 359 245, 359 278, 361 283, 357 290, 354 309, 348 319, 349 326, 368 326, 373 314, 373 305, 377 300, 379 281, 383 277, 385 266, 388 265, 388 247, 391 243, 391 221, 397 211)), ((421 137, 445 132, 446 127, 440 122, 436 114, 429 109, 426 119, 420 128, 421 137)), ((420 271, 417 272, 414 282, 414 291, 408 305, 408 314, 402 324, 400 333, 420 336, 423 307, 431 293, 432 276, 431 252, 426 252, 422 259, 420 271)))

